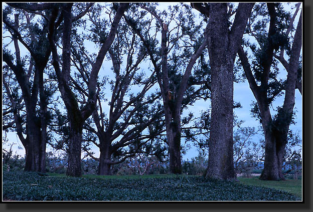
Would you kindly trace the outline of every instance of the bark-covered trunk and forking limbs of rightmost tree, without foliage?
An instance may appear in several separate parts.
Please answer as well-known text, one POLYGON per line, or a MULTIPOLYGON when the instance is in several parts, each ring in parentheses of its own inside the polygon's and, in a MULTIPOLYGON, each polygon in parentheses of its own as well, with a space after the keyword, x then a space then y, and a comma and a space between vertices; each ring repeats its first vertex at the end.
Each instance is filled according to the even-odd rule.
MULTIPOLYGON (((271 19, 275 18, 273 12, 273 6, 268 4, 268 7, 271 8, 270 14, 271 19)), ((269 105, 267 103, 267 90, 264 89, 268 83, 268 73, 271 66, 270 61, 272 61, 273 54, 267 56, 267 62, 263 64, 264 72, 263 81, 261 85, 258 86, 252 75, 250 64, 248 62, 247 56, 244 53, 242 47, 238 49, 238 55, 243 66, 243 70, 248 79, 250 89, 252 90, 257 104, 260 110, 262 127, 265 135, 265 158, 264 158, 264 169, 260 176, 262 180, 281 180, 284 179, 282 173, 282 161, 285 152, 285 146, 287 143, 287 135, 289 130, 289 125, 291 122, 292 111, 294 107, 294 93, 296 89, 296 80, 297 80, 297 67, 299 63, 299 56, 301 51, 301 34, 302 34, 302 14, 300 14, 300 19, 297 25, 297 29, 294 36, 294 42, 291 48, 291 54, 289 59, 289 64, 283 64, 286 68, 288 75, 285 85, 285 98, 284 103, 280 111, 278 111, 277 117, 275 120, 272 120, 269 105)), ((274 22, 270 22, 271 26, 269 31, 274 31, 274 22)), ((272 33, 268 33, 268 39, 272 33)), ((273 51, 272 47, 267 47, 273 51)), ((267 51, 269 52, 269 51, 267 51)), ((281 58, 280 58, 281 59, 281 58)))

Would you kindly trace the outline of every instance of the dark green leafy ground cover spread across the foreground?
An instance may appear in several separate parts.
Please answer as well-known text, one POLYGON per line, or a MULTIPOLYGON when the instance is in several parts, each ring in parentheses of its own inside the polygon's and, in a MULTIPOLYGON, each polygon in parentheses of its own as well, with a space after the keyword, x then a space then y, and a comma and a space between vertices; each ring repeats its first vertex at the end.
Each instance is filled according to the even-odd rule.
POLYGON ((3 198, 48 201, 299 201, 272 188, 199 176, 101 178, 3 172, 3 198))

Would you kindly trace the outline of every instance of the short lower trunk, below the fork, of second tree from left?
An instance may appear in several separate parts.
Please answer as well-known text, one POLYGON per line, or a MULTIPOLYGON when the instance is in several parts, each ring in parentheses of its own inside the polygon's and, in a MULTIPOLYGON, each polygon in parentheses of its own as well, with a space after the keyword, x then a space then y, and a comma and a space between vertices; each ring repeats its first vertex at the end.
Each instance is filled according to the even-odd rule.
POLYGON ((79 177, 82 175, 81 167, 81 143, 82 130, 71 126, 70 138, 68 144, 68 167, 66 171, 67 176, 79 177))

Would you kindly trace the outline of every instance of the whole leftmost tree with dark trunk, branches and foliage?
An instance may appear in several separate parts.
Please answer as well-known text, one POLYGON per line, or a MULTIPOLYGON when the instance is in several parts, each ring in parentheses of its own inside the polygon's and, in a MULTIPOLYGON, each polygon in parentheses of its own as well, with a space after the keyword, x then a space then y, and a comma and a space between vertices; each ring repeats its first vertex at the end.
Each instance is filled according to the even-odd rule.
POLYGON ((52 93, 44 85, 44 70, 47 66, 51 50, 46 38, 48 21, 44 14, 45 11, 42 10, 47 10, 50 7, 41 9, 38 4, 27 5, 23 3, 8 3, 8 5, 9 7, 4 10, 3 22, 5 23, 5 29, 12 35, 15 57, 11 54, 7 46, 3 49, 3 60, 7 64, 4 69, 7 72, 3 75, 3 81, 7 97, 11 102, 16 131, 26 151, 24 170, 45 172, 48 121, 47 106, 52 93), (16 11, 14 22, 10 20, 13 13, 12 8, 15 8, 16 11), (35 14, 39 14, 40 17, 35 17, 35 14), (42 28, 34 23, 34 19, 36 18, 41 19, 42 28), (25 20, 25 25, 20 23, 25 20), (27 49, 30 57, 25 56, 22 58, 19 44, 22 44, 27 49), (16 61, 16 64, 14 61, 16 61), (26 69, 26 65, 29 66, 28 69, 26 69), (14 72, 14 78, 17 80, 22 91, 26 110, 26 131, 23 130, 23 121, 20 115, 22 99, 17 99, 19 98, 19 94, 16 92, 17 90, 12 90, 10 88, 11 83, 8 83, 11 77, 9 69, 14 72), (38 100, 39 111, 36 109, 38 100), (23 133, 26 133, 26 138, 23 133))

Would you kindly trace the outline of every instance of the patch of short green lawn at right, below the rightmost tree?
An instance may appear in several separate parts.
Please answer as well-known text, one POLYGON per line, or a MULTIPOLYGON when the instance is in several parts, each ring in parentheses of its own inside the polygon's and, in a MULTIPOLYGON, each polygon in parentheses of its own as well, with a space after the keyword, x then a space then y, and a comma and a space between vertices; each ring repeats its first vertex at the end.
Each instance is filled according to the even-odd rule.
POLYGON ((241 183, 246 185, 263 186, 268 188, 275 188, 278 190, 284 190, 302 198, 302 179, 286 179, 281 181, 264 181, 260 180, 258 177, 238 177, 238 179, 241 183))

